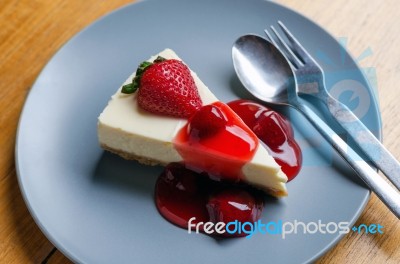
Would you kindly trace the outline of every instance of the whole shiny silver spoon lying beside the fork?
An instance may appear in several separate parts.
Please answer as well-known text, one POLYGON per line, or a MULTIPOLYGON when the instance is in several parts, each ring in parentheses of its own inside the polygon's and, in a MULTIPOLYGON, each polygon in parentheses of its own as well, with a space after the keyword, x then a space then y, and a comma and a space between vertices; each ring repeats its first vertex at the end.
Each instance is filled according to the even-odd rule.
POLYGON ((343 141, 307 105, 299 101, 296 78, 287 59, 266 39, 245 35, 232 47, 236 74, 256 98, 269 104, 287 105, 300 111, 333 146, 358 176, 400 219, 400 194, 343 141))

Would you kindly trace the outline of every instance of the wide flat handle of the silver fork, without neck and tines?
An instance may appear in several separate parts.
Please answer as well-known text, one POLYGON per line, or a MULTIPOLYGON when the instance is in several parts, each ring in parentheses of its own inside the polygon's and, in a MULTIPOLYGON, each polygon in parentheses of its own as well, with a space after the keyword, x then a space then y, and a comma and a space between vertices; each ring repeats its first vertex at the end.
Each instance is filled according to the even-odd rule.
POLYGON ((400 190, 400 163, 369 131, 369 129, 347 108, 331 95, 325 97, 326 105, 332 116, 338 121, 370 161, 400 190))

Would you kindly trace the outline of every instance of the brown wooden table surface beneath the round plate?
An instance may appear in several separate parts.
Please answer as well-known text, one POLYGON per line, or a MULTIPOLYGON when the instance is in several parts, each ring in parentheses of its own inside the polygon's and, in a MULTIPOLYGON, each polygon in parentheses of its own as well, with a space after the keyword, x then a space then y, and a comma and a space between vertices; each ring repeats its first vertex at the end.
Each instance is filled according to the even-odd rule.
MULTIPOLYGON (((25 97, 54 53, 95 19, 130 0, 0 1, 0 263, 69 263, 42 234, 22 199, 14 164, 17 122, 25 97)), ((375 67, 384 143, 400 158, 400 8, 397 0, 282 0, 335 37, 348 38, 361 66, 375 67), (332 3, 334 2, 334 3, 332 3)), ((349 233, 321 263, 399 263, 400 225, 372 195, 357 223, 379 223, 382 235, 349 233)))

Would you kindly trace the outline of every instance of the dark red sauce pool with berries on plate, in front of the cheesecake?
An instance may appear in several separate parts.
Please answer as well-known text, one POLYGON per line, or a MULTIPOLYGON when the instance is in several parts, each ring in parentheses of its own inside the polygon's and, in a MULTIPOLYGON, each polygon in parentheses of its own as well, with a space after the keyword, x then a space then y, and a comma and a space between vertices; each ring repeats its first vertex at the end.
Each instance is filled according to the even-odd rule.
MULTIPOLYGON (((193 226, 200 222, 227 224, 235 220, 253 223, 259 219, 264 204, 264 195, 259 190, 241 183, 214 181, 205 173, 193 172, 180 163, 171 163, 165 168, 157 180, 155 193, 161 215, 185 229, 193 217, 193 226)), ((191 229, 195 230, 193 226, 191 229)), ((203 231, 202 225, 199 231, 203 231)))

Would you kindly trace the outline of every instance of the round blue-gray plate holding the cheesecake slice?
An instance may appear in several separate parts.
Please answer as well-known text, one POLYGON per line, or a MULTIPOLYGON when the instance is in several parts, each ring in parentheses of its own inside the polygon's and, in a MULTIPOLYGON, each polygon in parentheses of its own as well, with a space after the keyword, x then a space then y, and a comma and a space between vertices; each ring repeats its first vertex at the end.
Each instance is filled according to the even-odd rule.
MULTIPOLYGON (((162 168, 125 161, 97 142, 97 116, 110 96, 140 61, 166 47, 222 101, 248 97, 234 74, 231 46, 240 35, 262 34, 278 19, 320 61, 328 87, 380 137, 378 107, 363 74, 334 38, 301 15, 262 0, 148 0, 126 6, 79 33, 51 59, 20 120, 21 190, 57 248, 80 263, 301 263, 317 259, 342 237, 258 234, 217 241, 189 235, 154 206, 162 168), (361 87, 352 90, 355 100, 343 89, 346 82, 361 87)), ((368 189, 302 116, 281 110, 292 119, 304 167, 288 184, 289 197, 267 199, 263 222, 354 223, 368 189)))

